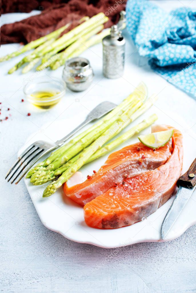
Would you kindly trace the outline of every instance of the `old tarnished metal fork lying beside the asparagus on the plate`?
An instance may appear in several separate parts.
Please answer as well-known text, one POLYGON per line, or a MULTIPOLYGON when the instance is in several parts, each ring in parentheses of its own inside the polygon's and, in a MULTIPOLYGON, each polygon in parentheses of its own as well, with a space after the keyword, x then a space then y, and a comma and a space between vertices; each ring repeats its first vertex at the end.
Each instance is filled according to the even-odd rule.
POLYGON ((31 144, 23 153, 19 156, 13 166, 10 168, 8 173, 6 174, 6 178, 8 178, 8 182, 13 178, 11 184, 18 179, 15 184, 17 184, 23 176, 29 171, 29 169, 45 154, 49 151, 57 149, 60 147, 67 139, 69 139, 75 132, 80 130, 83 126, 87 125, 89 122, 98 119, 110 112, 112 109, 116 107, 116 104, 111 102, 102 102, 97 107, 95 107, 86 117, 85 121, 82 122, 78 127, 76 127, 73 131, 67 134, 60 140, 57 140, 54 144, 49 142, 44 142, 43 140, 39 140, 31 144), (10 175, 10 176, 9 176, 10 175), (20 177, 19 177, 20 176, 20 177), (19 178, 18 178, 19 177, 19 178))

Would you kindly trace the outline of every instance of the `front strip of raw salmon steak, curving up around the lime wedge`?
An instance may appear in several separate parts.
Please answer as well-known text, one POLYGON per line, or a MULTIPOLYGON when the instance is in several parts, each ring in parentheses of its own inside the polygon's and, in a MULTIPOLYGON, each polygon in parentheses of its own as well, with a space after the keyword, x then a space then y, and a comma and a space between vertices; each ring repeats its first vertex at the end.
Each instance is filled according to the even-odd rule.
MULTIPOLYGON (((165 127, 173 129, 172 127, 165 127)), ((155 212, 172 195, 183 165, 180 131, 173 129, 173 152, 168 161, 152 171, 127 178, 115 188, 84 206, 87 225, 112 229, 132 225, 155 212)))

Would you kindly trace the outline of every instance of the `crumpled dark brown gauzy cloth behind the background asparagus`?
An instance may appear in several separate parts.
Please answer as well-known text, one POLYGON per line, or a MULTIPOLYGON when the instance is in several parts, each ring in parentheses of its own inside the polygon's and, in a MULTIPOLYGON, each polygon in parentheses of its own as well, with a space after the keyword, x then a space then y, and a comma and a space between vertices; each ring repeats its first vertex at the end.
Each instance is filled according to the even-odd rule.
POLYGON ((1 27, 1 44, 27 43, 36 40, 66 23, 73 22, 68 30, 78 25, 82 16, 92 17, 103 12, 109 17, 105 27, 110 27, 119 19, 119 12, 125 9, 127 0, 3 0, 2 11, 30 12, 42 10, 39 15, 1 27))

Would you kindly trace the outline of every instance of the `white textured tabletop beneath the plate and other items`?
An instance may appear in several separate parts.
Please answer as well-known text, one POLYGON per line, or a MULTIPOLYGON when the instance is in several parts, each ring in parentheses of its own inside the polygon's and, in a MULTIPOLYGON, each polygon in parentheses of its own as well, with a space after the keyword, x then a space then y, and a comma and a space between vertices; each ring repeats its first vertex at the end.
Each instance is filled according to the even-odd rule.
MULTIPOLYGON (((196 8, 196 1, 191 0, 154 2, 166 10, 182 5, 196 8)), ((22 17, 27 15, 3 15, 2 23, 22 17)), ((43 123, 73 115, 77 119, 78 113, 82 119, 105 99, 118 103, 141 79, 151 92, 159 93, 158 108, 164 112, 168 108, 176 110, 186 119, 189 128, 196 130, 195 101, 154 74, 146 60, 138 58, 128 35, 126 37, 123 78, 115 81, 103 78, 102 48, 97 45, 83 54, 95 72, 91 88, 83 93, 67 93, 66 98, 48 112, 20 102, 23 79, 32 76, 34 71, 26 75, 20 71, 11 76, 6 74, 21 56, 1 64, 1 119, 9 117, 0 123, 1 292, 196 292, 196 226, 167 243, 139 243, 111 250, 74 243, 42 225, 23 181, 18 186, 4 181, 4 174, 16 160, 18 149, 43 123)), ((1 56, 18 47, 18 44, 1 46, 1 56)), ((39 76, 44 74, 60 77, 62 67, 39 76)))

